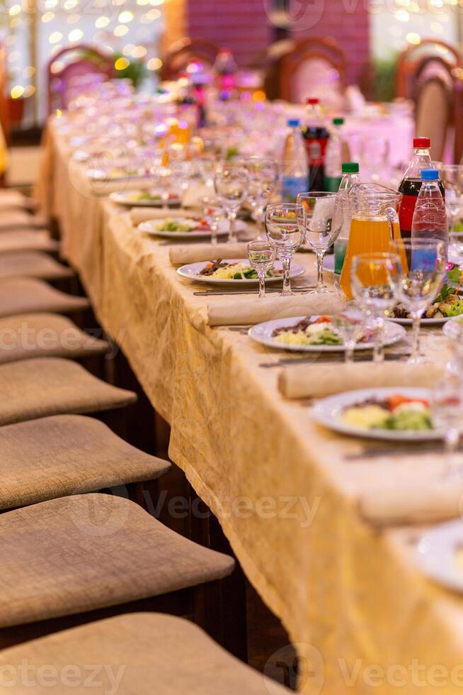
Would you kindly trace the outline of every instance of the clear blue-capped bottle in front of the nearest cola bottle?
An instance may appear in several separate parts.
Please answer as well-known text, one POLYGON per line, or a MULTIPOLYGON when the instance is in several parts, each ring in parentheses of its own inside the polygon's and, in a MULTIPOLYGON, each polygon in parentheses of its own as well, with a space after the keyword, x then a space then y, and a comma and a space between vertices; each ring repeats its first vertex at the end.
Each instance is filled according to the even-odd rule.
POLYGON ((449 225, 438 169, 422 169, 421 189, 411 223, 411 240, 431 238, 443 241, 447 249, 449 225))

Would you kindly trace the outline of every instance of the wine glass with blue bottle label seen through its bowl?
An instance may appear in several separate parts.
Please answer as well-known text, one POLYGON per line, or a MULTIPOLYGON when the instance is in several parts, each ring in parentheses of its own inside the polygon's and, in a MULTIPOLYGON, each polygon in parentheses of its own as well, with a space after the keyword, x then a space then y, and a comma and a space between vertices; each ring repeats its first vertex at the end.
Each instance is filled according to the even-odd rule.
POLYGON ((420 356, 420 324, 425 310, 435 302, 445 278, 445 244, 439 239, 397 240, 390 245, 399 259, 397 299, 410 313, 410 364, 422 361, 420 356))

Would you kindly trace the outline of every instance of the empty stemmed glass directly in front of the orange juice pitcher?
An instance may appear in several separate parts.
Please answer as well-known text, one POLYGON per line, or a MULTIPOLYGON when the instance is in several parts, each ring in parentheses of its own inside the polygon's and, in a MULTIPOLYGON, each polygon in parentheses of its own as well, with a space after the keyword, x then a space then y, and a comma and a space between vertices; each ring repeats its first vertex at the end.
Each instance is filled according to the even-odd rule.
POLYGON ((353 258, 350 285, 366 324, 375 331, 373 362, 384 360, 384 315, 397 302, 397 284, 401 273, 394 253, 361 253, 353 258))

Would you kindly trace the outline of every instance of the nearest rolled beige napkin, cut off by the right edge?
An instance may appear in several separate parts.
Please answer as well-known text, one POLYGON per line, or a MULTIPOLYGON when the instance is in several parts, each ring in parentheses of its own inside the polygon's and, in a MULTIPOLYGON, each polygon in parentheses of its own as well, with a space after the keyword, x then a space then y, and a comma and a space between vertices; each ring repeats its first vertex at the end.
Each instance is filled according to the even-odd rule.
MULTIPOLYGON (((422 455, 423 456, 423 455, 422 455)), ((434 463, 442 460, 435 455, 434 463)), ((401 462, 409 466, 406 458, 401 462)), ((430 523, 456 518, 462 513, 462 488, 455 477, 442 477, 442 469, 434 467, 433 476, 417 474, 403 481, 378 484, 362 491, 358 507, 363 518, 377 526, 388 524, 430 523)))

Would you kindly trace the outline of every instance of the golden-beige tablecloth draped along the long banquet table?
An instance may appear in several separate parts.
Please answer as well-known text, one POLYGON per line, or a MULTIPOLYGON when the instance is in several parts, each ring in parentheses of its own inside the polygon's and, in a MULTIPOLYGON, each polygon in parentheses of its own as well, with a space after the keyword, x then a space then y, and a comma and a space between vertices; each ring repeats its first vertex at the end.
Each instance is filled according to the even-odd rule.
MULTIPOLYGON (((199 286, 178 277, 168 245, 137 233, 127 210, 91 194, 71 154, 50 121, 42 207, 59 221, 62 253, 98 320, 170 423, 172 460, 306 657, 301 690, 414 693, 421 679, 427 692, 444 669, 445 693, 459 691, 463 601, 418 571, 420 528, 372 526, 359 506, 371 486, 404 484, 406 474, 413 488, 413 475, 432 469, 433 457, 414 458, 407 473, 401 457, 346 459, 365 442, 315 426, 307 404, 285 401, 280 369, 259 366, 273 353, 239 331, 207 326, 205 299, 193 295, 199 286)), ((297 262, 314 277, 313 256, 297 262)), ((436 336, 428 352, 445 360, 436 336)))

